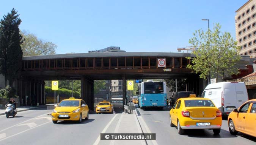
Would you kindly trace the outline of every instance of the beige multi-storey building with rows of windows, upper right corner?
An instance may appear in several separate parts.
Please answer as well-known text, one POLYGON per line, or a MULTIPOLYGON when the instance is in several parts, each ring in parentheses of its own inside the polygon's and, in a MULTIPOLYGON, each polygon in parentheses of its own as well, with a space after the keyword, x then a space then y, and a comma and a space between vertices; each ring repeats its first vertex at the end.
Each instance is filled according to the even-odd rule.
POLYGON ((248 0, 236 11, 236 40, 239 54, 256 58, 256 0, 248 0))

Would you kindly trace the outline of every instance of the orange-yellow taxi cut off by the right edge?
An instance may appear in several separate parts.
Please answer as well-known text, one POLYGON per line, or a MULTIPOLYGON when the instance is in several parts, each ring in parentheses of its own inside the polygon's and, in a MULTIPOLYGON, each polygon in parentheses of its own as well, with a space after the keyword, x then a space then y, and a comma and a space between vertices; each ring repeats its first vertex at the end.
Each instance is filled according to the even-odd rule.
POLYGON ((238 109, 234 109, 228 116, 229 132, 233 135, 237 131, 256 137, 256 99, 248 100, 238 109))

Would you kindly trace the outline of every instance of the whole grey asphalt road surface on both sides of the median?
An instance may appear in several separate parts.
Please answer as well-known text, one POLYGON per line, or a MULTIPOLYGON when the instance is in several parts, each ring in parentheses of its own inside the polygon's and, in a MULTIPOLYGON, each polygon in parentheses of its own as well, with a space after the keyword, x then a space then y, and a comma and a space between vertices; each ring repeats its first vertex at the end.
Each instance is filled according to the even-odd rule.
MULTIPOLYGON (((229 134, 226 120, 223 120, 222 130, 218 136, 214 136, 212 130, 189 130, 184 135, 179 135, 177 128, 169 125, 168 108, 162 111, 140 110, 140 108, 137 110, 138 120, 143 119, 144 126, 147 126, 151 133, 156 133, 157 140, 155 142, 147 141, 148 145, 256 144, 255 137, 229 134)), ((16 117, 8 119, 5 115, 0 116, 0 145, 93 145, 94 143, 112 145, 113 142, 108 140, 99 141, 99 135, 100 133, 114 133, 117 126, 123 122, 119 121, 122 118, 122 114, 119 113, 90 114, 89 120, 83 120, 82 123, 59 121, 57 124, 53 124, 50 116, 47 115, 51 111, 44 109, 23 111, 18 112, 16 117)), ((123 116, 123 120, 124 118, 125 116, 123 116)), ((140 124, 142 125, 143 122, 140 124)), ((138 127, 136 122, 130 124, 133 127, 138 127)), ((145 132, 148 133, 148 131, 145 132)), ((115 142, 115 144, 124 143, 126 145, 126 142, 124 140, 115 142)))

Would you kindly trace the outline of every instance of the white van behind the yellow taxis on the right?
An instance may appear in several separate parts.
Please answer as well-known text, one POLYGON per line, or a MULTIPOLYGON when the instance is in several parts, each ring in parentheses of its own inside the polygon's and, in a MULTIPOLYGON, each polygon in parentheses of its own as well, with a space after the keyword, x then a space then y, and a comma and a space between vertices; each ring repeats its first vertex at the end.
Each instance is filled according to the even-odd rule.
POLYGON ((211 99, 222 115, 228 116, 248 100, 248 93, 243 82, 220 82, 207 85, 201 97, 211 99))

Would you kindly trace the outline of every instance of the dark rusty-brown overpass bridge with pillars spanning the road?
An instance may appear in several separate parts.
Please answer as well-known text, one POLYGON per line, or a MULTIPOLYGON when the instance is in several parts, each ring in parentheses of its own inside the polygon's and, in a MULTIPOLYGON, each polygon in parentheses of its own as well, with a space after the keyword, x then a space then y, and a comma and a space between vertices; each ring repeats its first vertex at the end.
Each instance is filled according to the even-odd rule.
MULTIPOLYGON (((187 90, 201 94, 203 80, 186 66, 195 57, 190 53, 171 52, 99 52, 56 54, 22 58, 18 83, 21 101, 36 96, 45 103, 44 80, 81 80, 81 98, 93 108, 93 80, 123 80, 126 96, 127 79, 187 79, 187 90), (157 67, 157 59, 166 59, 166 67, 157 67)), ((123 98, 125 100, 125 98, 123 98)), ((125 102, 125 101, 123 101, 125 102)))

